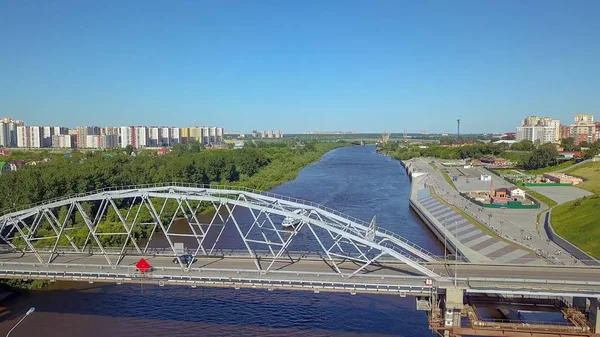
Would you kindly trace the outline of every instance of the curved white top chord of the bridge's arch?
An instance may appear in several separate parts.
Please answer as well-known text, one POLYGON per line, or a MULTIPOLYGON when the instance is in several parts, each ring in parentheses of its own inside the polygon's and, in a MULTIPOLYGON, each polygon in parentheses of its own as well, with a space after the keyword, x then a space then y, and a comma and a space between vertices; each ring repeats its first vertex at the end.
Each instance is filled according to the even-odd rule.
MULTIPOLYGON (((185 187, 185 188, 198 188, 198 189, 212 189, 212 190, 231 190, 231 191, 240 191, 240 192, 247 192, 247 193, 253 193, 253 194, 258 194, 258 195, 262 195, 262 196, 266 196, 266 197, 271 197, 274 199, 278 199, 278 200, 283 200, 283 201, 288 201, 288 202, 293 202, 293 203, 297 203, 297 204, 301 204, 301 205, 305 205, 305 206, 310 206, 313 208, 317 208, 319 210, 325 211, 327 213, 331 213, 334 214, 336 216, 339 216, 345 220, 348 220, 352 223, 364 226, 364 227, 368 227, 369 223, 359 219, 357 217, 342 213, 340 211, 337 211, 335 209, 332 209, 330 207, 327 207, 325 205, 313 202, 313 201, 308 201, 308 200, 304 200, 304 199, 299 199, 299 198, 295 198, 295 197, 290 197, 290 196, 286 196, 286 195, 281 195, 281 194, 277 194, 277 193, 272 193, 272 192, 266 192, 266 191, 260 191, 257 189, 253 189, 253 188, 249 188, 249 187, 245 187, 245 186, 229 186, 229 185, 216 185, 216 184, 194 184, 194 183, 182 183, 182 182, 167 182, 167 183, 154 183, 154 184, 140 184, 140 185, 123 185, 123 186, 111 186, 111 187, 105 187, 105 188, 101 188, 101 189, 96 189, 90 192, 86 192, 86 193, 77 193, 77 194, 71 194, 71 195, 67 195, 64 197, 58 197, 58 198, 54 198, 54 199, 50 199, 50 200, 44 200, 42 202, 38 202, 38 203, 33 203, 30 204, 28 206, 25 206, 23 208, 11 208, 11 209, 7 209, 7 210, 3 210, 2 211, 2 215, 8 214, 8 213, 12 213, 12 212, 18 212, 18 211, 22 211, 22 210, 26 210, 26 209, 31 209, 31 208, 36 208, 36 207, 42 207, 45 205, 49 205, 52 203, 56 203, 56 202, 61 202, 61 201, 65 201, 65 200, 69 200, 69 199, 76 199, 76 198, 84 198, 84 197, 89 197, 92 195, 97 195, 97 194, 102 194, 102 193, 106 193, 106 192, 116 192, 116 191, 130 191, 130 190, 142 190, 142 189, 154 189, 154 188, 168 188, 168 187, 185 187)), ((412 243, 411 241, 409 241, 408 239, 381 227, 377 227, 376 231, 379 233, 383 233, 387 236, 391 236, 399 241, 401 241, 403 244, 406 244, 410 247, 412 247, 415 250, 420 251, 422 254, 427 255, 429 257, 431 257, 432 259, 438 259, 439 257, 430 253, 429 251, 427 251, 426 249, 420 247, 419 245, 412 243)))

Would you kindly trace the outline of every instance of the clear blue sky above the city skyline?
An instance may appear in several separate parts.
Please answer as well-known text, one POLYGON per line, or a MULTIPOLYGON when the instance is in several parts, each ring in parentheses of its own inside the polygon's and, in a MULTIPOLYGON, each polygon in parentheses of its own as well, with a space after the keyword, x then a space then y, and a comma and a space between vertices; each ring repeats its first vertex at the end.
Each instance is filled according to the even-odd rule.
POLYGON ((511 131, 600 118, 600 1, 2 1, 28 125, 511 131), (93 4, 92 4, 93 3, 93 4))

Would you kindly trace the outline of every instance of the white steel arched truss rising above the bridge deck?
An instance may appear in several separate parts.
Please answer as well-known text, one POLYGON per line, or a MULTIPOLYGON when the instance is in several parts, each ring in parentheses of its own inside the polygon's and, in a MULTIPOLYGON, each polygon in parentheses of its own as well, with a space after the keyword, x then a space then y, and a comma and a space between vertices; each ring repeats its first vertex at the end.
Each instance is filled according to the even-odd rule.
POLYGON ((156 254, 159 245, 166 247, 159 254, 187 270, 184 251, 194 258, 215 256, 237 244, 263 274, 285 261, 289 251, 310 250, 342 278, 367 273, 381 259, 440 278, 425 266, 438 257, 377 228, 375 218, 367 223, 317 203, 228 186, 126 186, 50 200, 0 216, 0 239, 15 251, 34 254, 44 266, 68 249, 93 251, 115 267, 128 255, 156 254), (209 207, 214 214, 203 214, 209 207), (284 219, 293 226, 284 228, 284 219), (355 268, 340 268, 339 261, 352 261, 355 268))

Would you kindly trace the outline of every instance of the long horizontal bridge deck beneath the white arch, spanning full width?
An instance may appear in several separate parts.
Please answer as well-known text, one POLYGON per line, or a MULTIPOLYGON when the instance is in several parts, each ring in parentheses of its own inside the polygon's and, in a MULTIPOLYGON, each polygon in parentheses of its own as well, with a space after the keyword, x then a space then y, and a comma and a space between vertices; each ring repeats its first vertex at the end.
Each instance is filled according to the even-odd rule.
MULTIPOLYGON (((39 263, 33 254, 1 254, 0 275, 18 278, 95 280, 106 282, 139 281, 135 263, 142 256, 126 256, 118 266, 108 266, 102 255, 68 254, 58 256, 50 265, 39 263)), ((393 292, 427 294, 426 277, 414 274, 411 266, 383 261, 352 277, 341 277, 330 261, 301 258, 275 262, 268 273, 256 270, 247 257, 203 257, 189 270, 173 263, 173 257, 144 256, 153 271, 147 281, 196 285, 305 288, 326 291, 393 292)), ((264 261, 270 264, 271 260, 264 261)), ((341 270, 356 270, 355 262, 337 260, 341 270)), ((261 263, 262 265, 262 263, 261 263)), ((458 285, 470 292, 556 294, 600 296, 600 269, 567 266, 485 265, 443 262, 424 264, 441 275, 436 287, 451 287, 454 270, 458 285)))

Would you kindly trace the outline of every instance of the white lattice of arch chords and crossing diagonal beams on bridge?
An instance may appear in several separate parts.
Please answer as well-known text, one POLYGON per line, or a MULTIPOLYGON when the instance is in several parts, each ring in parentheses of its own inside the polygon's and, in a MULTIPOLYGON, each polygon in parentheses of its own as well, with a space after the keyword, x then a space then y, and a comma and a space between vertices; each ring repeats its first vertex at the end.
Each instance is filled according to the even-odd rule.
MULTIPOLYGON (((297 241, 296 238, 298 237, 298 233, 304 230, 304 233, 309 232, 310 236, 315 239, 316 244, 322 249, 327 260, 335 262, 334 257, 340 257, 361 263, 357 270, 349 275, 344 274, 345 276, 351 277, 352 275, 356 275, 356 273, 364 271, 367 266, 372 265, 383 256, 390 256, 397 259, 399 262, 406 263, 424 275, 430 277, 438 276, 420 262, 420 260, 432 261, 431 254, 401 237, 392 235, 393 233, 382 232, 375 228, 374 219, 371 226, 369 226, 366 223, 358 223, 355 220, 351 220, 349 217, 345 217, 340 213, 327 211, 324 207, 314 203, 297 203, 290 201, 289 199, 277 199, 274 196, 235 189, 194 188, 165 185, 153 188, 105 191, 83 197, 65 199, 63 201, 57 201, 36 208, 0 216, 0 224, 2 224, 0 235, 5 238, 5 241, 10 243, 11 233, 18 232, 20 237, 25 241, 26 248, 36 254, 36 257, 42 262, 33 242, 34 240, 40 239, 36 238, 35 235, 42 219, 46 218, 50 223, 50 227, 52 227, 52 230, 56 234, 56 242, 54 242, 52 246, 51 256, 48 260, 49 262, 52 261, 53 256, 58 249, 61 237, 65 236, 73 249, 75 251, 79 250, 80 252, 84 251, 91 240, 95 241, 102 255, 105 256, 108 264, 113 265, 108 258, 107 250, 105 249, 106 247, 101 244, 98 235, 127 236, 125 243, 118 254, 118 264, 123 257, 128 254, 126 247, 129 244, 134 246, 133 251, 137 254, 147 254, 153 234, 160 229, 160 231, 164 233, 165 239, 169 248, 172 250, 173 255, 179 259, 174 242, 171 239, 171 235, 175 234, 169 232, 169 229, 175 220, 175 216, 170 219, 171 221, 169 223, 163 222, 161 218, 165 214, 164 211, 169 200, 177 201, 176 214, 179 213, 179 211, 183 213, 183 218, 192 231, 192 234, 186 235, 192 237, 198 244, 198 248, 193 254, 194 256, 200 252, 207 255, 214 254, 217 243, 221 239, 225 227, 233 226, 242 238, 243 244, 249 255, 253 258, 257 270, 268 272, 274 266, 274 263, 284 256, 292 242, 297 241), (165 200, 160 211, 157 210, 152 203, 152 198, 162 198, 165 200), (133 199, 125 216, 118 210, 114 199, 133 199), (138 200, 140 201, 139 207, 137 211, 134 212, 134 205, 138 200), (217 211, 213 215, 210 223, 203 224, 199 221, 197 216, 198 207, 194 210, 190 201, 197 201, 198 207, 200 207, 200 204, 203 202, 211 203, 215 207, 217 211), (97 202, 100 204, 95 216, 86 214, 81 205, 83 202, 97 202), (74 244, 74 241, 72 241, 67 234, 66 230, 70 229, 66 227, 67 221, 59 222, 52 213, 52 209, 65 205, 70 206, 67 219, 71 217, 72 213, 78 211, 82 215, 85 227, 89 230, 81 249, 78 249, 77 245, 74 244), (124 233, 97 233, 96 228, 103 220, 108 207, 111 207, 116 211, 117 216, 125 229, 124 233), (237 218, 236 214, 234 214, 234 210, 237 207, 245 208, 250 211, 252 217, 251 222, 247 222, 243 218, 237 218), (153 224, 153 228, 150 238, 143 249, 141 249, 133 237, 133 230, 135 226, 140 223, 139 217, 142 208, 146 208, 153 219, 153 222, 148 223, 153 224), (221 214, 222 210, 226 213, 225 217, 221 214), (295 213, 294 211, 296 210, 302 210, 303 212, 300 214, 295 213), (135 215, 133 215, 133 213, 135 213, 135 215), (133 219, 131 219, 132 215, 133 219), (276 224, 276 222, 279 221, 276 220, 277 217, 293 217, 300 222, 295 228, 288 231, 276 224), (33 218, 33 220, 27 220, 27 223, 23 221, 24 219, 31 218, 33 218), (220 219, 220 224, 216 223, 217 219, 220 219), (207 233, 213 226, 220 226, 220 230, 218 231, 218 235, 214 242, 211 241, 210 244, 207 245, 207 233), (257 233, 260 232, 258 236, 262 239, 249 235, 254 229, 258 229, 257 233), (271 257, 273 258, 266 268, 261 267, 260 260, 255 253, 256 248, 254 248, 254 246, 259 244, 267 245, 271 257)), ((181 263, 181 261, 179 262, 181 263)), ((333 268, 340 275, 343 274, 335 263, 333 263, 333 268)))

